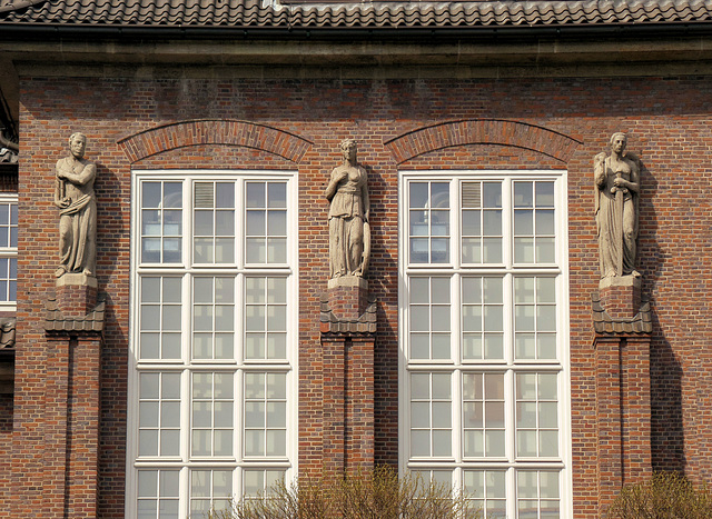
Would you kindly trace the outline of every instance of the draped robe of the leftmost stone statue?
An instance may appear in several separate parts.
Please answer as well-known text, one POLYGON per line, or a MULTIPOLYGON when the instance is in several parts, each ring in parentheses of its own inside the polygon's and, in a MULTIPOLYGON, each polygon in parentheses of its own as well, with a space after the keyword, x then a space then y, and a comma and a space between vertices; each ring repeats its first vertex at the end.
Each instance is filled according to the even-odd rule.
MULTIPOLYGON (((83 168, 96 166, 87 163, 83 168)), ((61 159, 57 163, 57 170, 60 169, 72 171, 71 159, 61 159)), ((93 179, 85 190, 88 192, 81 192, 69 180, 58 179, 58 182, 63 182, 65 196, 70 199, 70 204, 59 211, 59 265, 67 272, 87 270, 93 273, 97 224, 97 200, 91 186, 93 179)))

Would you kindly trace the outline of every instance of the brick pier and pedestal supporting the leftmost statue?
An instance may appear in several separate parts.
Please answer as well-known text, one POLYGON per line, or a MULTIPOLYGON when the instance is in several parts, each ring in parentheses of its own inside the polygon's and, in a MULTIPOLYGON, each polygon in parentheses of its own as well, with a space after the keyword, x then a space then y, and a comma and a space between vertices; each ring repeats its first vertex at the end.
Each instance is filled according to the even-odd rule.
MULTIPOLYGON (((97 517, 101 345, 106 296, 97 280, 66 273, 46 306, 46 477, 63 517, 97 517)), ((48 498, 49 499, 49 498, 48 498)), ((53 516, 52 516, 53 517, 53 516)))

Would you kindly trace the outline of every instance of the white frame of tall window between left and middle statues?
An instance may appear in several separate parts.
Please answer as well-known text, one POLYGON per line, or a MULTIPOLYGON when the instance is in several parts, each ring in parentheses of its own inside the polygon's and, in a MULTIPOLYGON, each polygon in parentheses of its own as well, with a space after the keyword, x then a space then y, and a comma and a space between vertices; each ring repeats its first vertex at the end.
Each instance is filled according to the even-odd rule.
POLYGON ((131 172, 131 243, 130 243, 130 346, 128 370, 127 406, 127 465, 126 465, 126 517, 137 516, 138 470, 176 469, 179 470, 179 510, 178 517, 187 518, 190 511, 190 471, 192 469, 233 470, 233 498, 243 496, 243 473, 245 469, 284 470, 287 481, 298 471, 298 178, 296 171, 268 170, 134 170, 131 172), (180 263, 141 265, 141 224, 140 182, 141 181, 181 181, 182 182, 182 260, 180 263), (192 183, 200 180, 235 181, 236 227, 234 265, 191 265, 192 258, 192 183), (246 265, 244 186, 248 181, 280 181, 287 184, 287 261, 279 265, 246 265), (168 360, 139 360, 139 311, 141 275, 178 276, 181 285, 181 358, 168 360), (192 283, 190 279, 201 275, 235 277, 235 345, 233 359, 191 360, 192 283), (248 276, 278 276, 287 279, 287 351, 286 359, 246 360, 240 345, 245 335, 244 285, 248 276), (239 339, 239 338, 243 339, 239 339), (187 345, 187 346, 186 346, 187 345), (138 456, 139 395, 138 382, 141 372, 180 373, 180 455, 178 457, 138 456), (195 372, 234 373, 234 421, 233 456, 200 458, 191 456, 191 373, 195 372), (246 372, 279 372, 286 375, 286 425, 287 445, 284 457, 248 457, 244 452, 244 397, 243 383, 246 372))

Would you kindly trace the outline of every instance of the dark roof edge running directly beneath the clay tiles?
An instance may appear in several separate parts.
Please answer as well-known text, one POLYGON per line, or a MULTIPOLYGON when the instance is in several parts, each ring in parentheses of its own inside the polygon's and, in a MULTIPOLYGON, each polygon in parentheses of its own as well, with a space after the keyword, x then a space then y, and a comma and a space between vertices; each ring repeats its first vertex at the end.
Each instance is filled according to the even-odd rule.
MULTIPOLYGON (((692 36, 712 33, 712 21, 704 22, 662 22, 662 23, 607 23, 607 24, 565 24, 565 26, 515 26, 515 27, 194 27, 194 26, 96 26, 96 24, 31 24, 2 23, 2 33, 8 38, 22 36, 37 37, 113 37, 120 39, 208 39, 241 36, 248 38, 286 38, 286 39, 339 39, 354 38, 538 38, 538 37, 585 37, 615 36, 632 38, 641 36, 692 36)), ((0 37, 1 39, 2 37, 0 37)))

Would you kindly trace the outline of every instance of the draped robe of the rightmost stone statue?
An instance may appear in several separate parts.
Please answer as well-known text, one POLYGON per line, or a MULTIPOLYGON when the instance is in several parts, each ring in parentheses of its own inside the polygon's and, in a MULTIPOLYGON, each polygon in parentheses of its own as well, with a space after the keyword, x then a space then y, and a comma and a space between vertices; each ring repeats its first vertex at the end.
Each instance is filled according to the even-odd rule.
MULTIPOLYGON (((632 172, 634 164, 624 159, 632 172)), ((596 187, 596 227, 599 231, 599 256, 601 263, 601 277, 615 275, 619 254, 623 253, 623 276, 635 270, 635 254, 637 240, 637 193, 629 190, 623 194, 623 212, 615 202, 615 193, 611 192, 615 172, 610 166, 611 157, 595 161, 596 173, 603 168, 605 177, 596 187), (622 242, 621 242, 622 241, 622 242)), ((631 172, 625 172, 622 178, 631 181, 631 172)), ((599 174, 596 174, 599 178, 599 174)))

